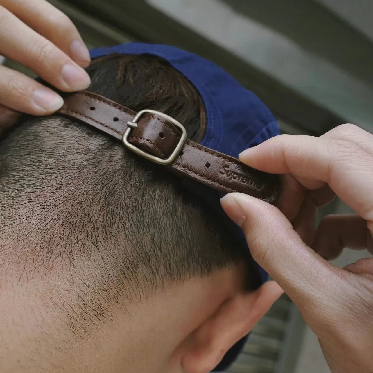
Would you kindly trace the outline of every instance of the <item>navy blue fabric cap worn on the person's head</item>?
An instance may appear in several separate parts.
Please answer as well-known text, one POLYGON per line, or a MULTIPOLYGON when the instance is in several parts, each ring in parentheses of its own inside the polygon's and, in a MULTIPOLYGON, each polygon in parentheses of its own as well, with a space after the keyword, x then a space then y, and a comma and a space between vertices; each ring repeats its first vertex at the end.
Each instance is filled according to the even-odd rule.
MULTIPOLYGON (((275 118, 254 93, 239 84, 222 68, 196 54, 167 45, 145 43, 96 48, 90 53, 92 59, 121 53, 151 54, 167 60, 189 79, 204 101, 207 125, 201 144, 208 148, 238 157, 241 151, 279 135, 275 118)), ((239 234, 246 245, 243 233, 239 234)), ((257 267, 261 280, 265 282, 267 274, 261 267, 257 267)), ((246 339, 241 339, 233 346, 214 371, 220 372, 231 365, 246 339)))

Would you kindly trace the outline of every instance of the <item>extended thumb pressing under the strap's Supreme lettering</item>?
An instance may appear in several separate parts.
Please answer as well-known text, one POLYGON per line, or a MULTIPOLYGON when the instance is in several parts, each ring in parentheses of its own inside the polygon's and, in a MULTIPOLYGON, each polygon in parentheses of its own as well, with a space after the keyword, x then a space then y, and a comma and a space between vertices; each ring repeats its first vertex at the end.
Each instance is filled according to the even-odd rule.
POLYGON ((232 193, 222 198, 228 216, 245 233, 253 258, 306 313, 317 311, 327 297, 327 284, 338 274, 308 247, 278 210, 257 198, 232 193))

